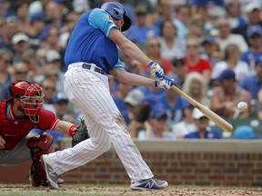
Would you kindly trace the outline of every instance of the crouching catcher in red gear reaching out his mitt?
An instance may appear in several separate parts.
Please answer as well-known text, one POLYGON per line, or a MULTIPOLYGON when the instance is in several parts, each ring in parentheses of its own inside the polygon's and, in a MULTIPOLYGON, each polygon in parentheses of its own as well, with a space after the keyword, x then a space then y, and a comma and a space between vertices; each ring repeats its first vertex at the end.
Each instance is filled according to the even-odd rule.
MULTIPOLYGON (((9 88, 11 96, 0 101, 0 165, 12 166, 32 159, 29 181, 33 186, 48 185, 39 157, 55 152, 53 136, 45 130, 63 132, 72 137, 82 130, 82 123, 60 121, 55 114, 42 109, 44 93, 37 83, 19 81, 9 88), (33 135, 32 129, 43 131, 33 135)), ((84 124, 84 122, 83 122, 84 124)), ((74 144, 79 142, 75 139, 74 144)), ((62 182, 58 178, 58 183, 62 182)))

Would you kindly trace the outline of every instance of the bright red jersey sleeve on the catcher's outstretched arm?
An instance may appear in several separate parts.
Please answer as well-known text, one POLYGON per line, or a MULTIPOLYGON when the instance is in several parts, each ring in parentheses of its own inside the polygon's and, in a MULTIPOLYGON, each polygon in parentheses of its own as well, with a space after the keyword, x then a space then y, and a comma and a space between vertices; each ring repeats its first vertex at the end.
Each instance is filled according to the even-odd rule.
POLYGON ((54 130, 57 122, 59 122, 59 119, 55 117, 54 113, 47 110, 41 110, 39 114, 39 122, 36 126, 41 130, 54 130))

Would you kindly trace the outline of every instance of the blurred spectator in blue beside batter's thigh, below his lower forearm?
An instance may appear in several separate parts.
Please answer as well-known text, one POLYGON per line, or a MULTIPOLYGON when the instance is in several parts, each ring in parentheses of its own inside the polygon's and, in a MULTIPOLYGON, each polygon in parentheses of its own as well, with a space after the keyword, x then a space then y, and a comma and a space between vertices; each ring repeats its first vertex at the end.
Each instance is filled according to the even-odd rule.
POLYGON ((117 82, 116 84, 116 95, 113 95, 114 102, 116 103, 117 108, 119 109, 120 113, 126 120, 126 124, 129 125, 130 119, 128 116, 128 108, 125 102, 126 95, 131 91, 133 88, 132 85, 128 85, 126 83, 117 82))

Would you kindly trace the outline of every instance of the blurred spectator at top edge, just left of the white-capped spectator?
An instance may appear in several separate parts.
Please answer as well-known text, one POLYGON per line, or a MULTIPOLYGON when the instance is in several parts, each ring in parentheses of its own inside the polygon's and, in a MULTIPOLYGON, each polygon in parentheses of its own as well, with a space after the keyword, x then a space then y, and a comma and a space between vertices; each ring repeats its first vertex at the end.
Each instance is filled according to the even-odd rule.
POLYGON ((226 1, 228 23, 231 29, 247 25, 247 20, 241 13, 241 3, 238 0, 226 1))

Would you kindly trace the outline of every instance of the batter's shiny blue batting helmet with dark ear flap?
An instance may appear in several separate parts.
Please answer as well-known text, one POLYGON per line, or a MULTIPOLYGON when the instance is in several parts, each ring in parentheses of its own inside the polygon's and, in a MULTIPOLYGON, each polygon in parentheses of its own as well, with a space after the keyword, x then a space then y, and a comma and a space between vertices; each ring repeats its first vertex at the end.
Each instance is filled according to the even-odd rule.
POLYGON ((111 15, 116 20, 121 20, 124 18, 124 25, 121 31, 126 31, 131 26, 131 20, 126 15, 126 9, 123 5, 117 2, 106 2, 101 5, 101 9, 105 10, 109 15, 111 15))

